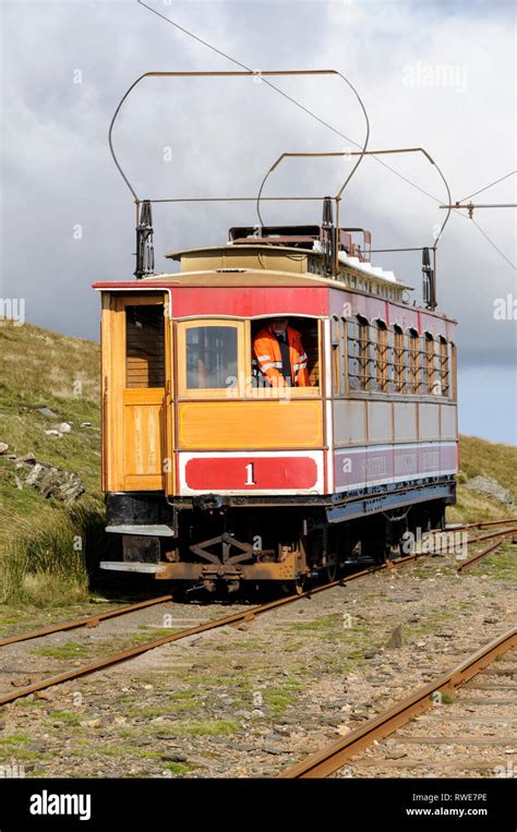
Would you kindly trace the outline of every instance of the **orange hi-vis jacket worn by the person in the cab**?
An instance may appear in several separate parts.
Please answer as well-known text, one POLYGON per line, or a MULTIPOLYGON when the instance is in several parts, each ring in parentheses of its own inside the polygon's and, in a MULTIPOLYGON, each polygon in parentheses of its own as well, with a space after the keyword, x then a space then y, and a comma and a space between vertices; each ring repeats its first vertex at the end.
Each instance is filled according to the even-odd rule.
MULTIPOLYGON (((306 353, 303 349, 301 335, 291 326, 287 327, 287 342, 294 386, 310 387, 306 353)), ((287 382, 281 372, 280 346, 275 333, 270 331, 269 328, 261 329, 253 341, 253 352, 258 369, 266 376, 272 387, 287 387, 287 382)))

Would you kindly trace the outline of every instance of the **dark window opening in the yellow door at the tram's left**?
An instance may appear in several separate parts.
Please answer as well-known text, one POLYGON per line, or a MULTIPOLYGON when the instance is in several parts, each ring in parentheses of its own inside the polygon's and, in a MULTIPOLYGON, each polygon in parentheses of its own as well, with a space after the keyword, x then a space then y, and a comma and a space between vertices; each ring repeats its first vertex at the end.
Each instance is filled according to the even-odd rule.
POLYGON ((125 387, 165 386, 164 306, 125 306, 125 387))

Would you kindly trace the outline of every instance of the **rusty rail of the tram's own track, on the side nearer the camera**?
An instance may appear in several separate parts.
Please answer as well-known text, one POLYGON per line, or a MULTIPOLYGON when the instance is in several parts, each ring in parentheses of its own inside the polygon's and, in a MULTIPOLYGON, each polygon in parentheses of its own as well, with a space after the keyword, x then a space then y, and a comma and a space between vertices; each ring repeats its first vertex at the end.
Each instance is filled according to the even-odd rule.
POLYGON ((29 696, 29 694, 35 694, 38 690, 45 690, 46 688, 53 687, 53 685, 60 685, 63 682, 81 678, 82 676, 87 676, 92 673, 103 671, 107 667, 112 667, 116 664, 120 664, 121 662, 125 662, 130 659, 134 659, 137 655, 142 655, 143 653, 146 653, 149 650, 154 650, 157 647, 163 647, 164 644, 168 644, 172 641, 179 641, 180 639, 188 638, 189 636, 195 636, 200 632, 206 632, 207 630, 218 629, 219 627, 225 627, 229 624, 237 624, 239 622, 252 620, 256 615, 262 615, 263 613, 269 612, 269 610, 275 610, 279 606, 287 606, 287 604, 291 604, 294 601, 300 601, 303 598, 311 598, 312 595, 316 595, 318 592, 323 592, 327 589, 332 589, 333 587, 339 587, 345 583, 350 583, 351 581, 357 580, 358 578, 365 577, 366 575, 372 575, 383 569, 393 569, 408 562, 416 560, 418 557, 422 557, 422 555, 419 555, 419 554, 407 555, 406 557, 400 557, 389 563, 384 563, 377 566, 369 567, 368 569, 363 569, 360 572, 354 572, 353 575, 349 575, 346 578, 340 578, 339 580, 330 581, 329 583, 326 583, 322 587, 315 587, 314 589, 308 590, 306 592, 302 592, 300 594, 288 595, 287 598, 277 599, 276 601, 270 601, 266 604, 253 606, 250 610, 244 610, 240 613, 235 613, 233 615, 226 615, 221 618, 216 618, 213 622, 206 622, 205 624, 200 624, 196 627, 189 627, 188 629, 180 630, 179 632, 171 634, 170 636, 163 636, 159 639, 147 641, 144 644, 139 644, 137 647, 130 648, 120 653, 116 653, 112 656, 108 656, 107 659, 100 659, 96 662, 92 662, 91 664, 83 665, 82 667, 75 667, 72 671, 65 671, 64 673, 59 673, 56 676, 49 676, 47 678, 40 679, 39 682, 35 682, 31 685, 26 685, 22 688, 19 688, 17 690, 5 694, 4 696, 0 696, 0 706, 9 704, 10 702, 16 701, 16 699, 21 699, 22 697, 29 696))

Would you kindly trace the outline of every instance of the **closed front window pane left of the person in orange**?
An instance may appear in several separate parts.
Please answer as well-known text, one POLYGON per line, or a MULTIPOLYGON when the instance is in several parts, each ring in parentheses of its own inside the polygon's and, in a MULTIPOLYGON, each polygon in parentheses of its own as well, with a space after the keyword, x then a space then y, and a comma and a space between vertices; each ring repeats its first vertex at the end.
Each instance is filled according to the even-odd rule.
POLYGON ((188 389, 223 389, 237 376, 237 328, 192 326, 187 329, 188 389))

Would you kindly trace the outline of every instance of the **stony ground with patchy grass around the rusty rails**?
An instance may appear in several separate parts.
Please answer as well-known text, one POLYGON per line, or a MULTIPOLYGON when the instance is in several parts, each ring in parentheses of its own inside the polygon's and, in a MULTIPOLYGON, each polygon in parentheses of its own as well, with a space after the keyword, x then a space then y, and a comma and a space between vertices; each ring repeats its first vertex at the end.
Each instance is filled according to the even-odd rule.
MULTIPOLYGON (((458 576, 455 555, 426 556, 19 700, 0 713, 0 765, 48 777, 275 776, 513 626, 515 557, 508 543, 458 576), (388 647, 397 627, 401 643, 388 647)), ((0 648, 0 694, 239 608, 167 603, 94 629, 0 648)), ((29 627, 29 617, 8 610, 2 617, 0 610, 0 635, 49 620, 34 612, 29 627)), ((515 656, 507 661, 515 666, 515 656)), ((505 699, 515 698, 512 675, 504 679, 505 699)), ((473 694, 464 689, 440 716, 448 709, 445 722, 454 721, 459 697, 473 694)), ((476 698, 462 708, 460 732, 469 745, 419 746, 422 764, 414 767, 411 743, 392 737, 341 776, 448 776, 452 755, 479 759, 465 776, 513 770, 515 708, 476 698), (471 740, 488 737, 497 741, 478 743, 473 753, 471 740)), ((449 731, 433 710, 404 734, 449 731)))

